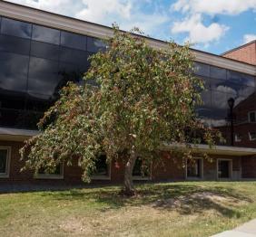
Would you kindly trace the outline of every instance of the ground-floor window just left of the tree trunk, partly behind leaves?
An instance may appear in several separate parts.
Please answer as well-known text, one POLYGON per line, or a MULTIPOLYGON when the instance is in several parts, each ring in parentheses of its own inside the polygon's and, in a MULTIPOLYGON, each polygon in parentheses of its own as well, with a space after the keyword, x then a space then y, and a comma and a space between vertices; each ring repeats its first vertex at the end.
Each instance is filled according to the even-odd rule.
POLYGON ((95 163, 93 179, 109 179, 110 165, 107 163, 106 155, 100 155, 95 163))

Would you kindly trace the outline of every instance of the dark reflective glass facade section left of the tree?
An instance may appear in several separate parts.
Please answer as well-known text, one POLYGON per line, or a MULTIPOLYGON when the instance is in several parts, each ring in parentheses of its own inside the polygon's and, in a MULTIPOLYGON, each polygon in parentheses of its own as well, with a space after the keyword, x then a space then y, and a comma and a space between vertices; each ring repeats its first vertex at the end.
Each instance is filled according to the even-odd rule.
POLYGON ((0 127, 36 129, 67 81, 79 82, 98 39, 0 16, 0 127))

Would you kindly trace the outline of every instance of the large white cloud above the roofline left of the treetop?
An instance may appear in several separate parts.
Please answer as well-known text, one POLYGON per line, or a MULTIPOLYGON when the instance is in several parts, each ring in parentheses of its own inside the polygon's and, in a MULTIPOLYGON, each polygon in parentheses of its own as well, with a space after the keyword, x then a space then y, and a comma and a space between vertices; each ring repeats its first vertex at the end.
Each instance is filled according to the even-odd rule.
POLYGON ((28 5, 97 24, 117 23, 123 30, 131 30, 137 26, 149 34, 158 30, 160 24, 169 20, 166 14, 157 10, 148 14, 143 13, 143 4, 151 4, 151 0, 8 0, 8 2, 28 5))

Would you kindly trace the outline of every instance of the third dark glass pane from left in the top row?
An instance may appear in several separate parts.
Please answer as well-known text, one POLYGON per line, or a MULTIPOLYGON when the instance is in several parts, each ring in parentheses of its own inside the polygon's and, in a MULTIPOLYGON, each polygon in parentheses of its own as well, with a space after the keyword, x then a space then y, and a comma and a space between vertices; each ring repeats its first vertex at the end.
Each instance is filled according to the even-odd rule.
POLYGON ((76 33, 61 33, 61 45, 78 50, 86 49, 86 37, 76 33))

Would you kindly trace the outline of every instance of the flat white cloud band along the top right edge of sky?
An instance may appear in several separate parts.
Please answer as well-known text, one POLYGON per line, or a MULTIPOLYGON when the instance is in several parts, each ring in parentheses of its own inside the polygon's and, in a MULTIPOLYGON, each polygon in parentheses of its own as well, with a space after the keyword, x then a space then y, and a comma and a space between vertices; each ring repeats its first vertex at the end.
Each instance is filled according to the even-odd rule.
POLYGON ((249 9, 256 10, 256 0, 178 0, 171 7, 182 13, 241 14, 249 9))

